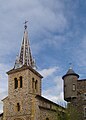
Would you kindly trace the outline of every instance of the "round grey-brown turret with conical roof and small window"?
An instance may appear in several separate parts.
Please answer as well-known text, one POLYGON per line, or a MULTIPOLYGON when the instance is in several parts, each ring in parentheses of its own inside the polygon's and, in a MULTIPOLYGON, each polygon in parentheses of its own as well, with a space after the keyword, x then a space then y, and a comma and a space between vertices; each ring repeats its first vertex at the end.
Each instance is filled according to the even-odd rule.
POLYGON ((70 102, 77 97, 77 80, 79 75, 72 68, 69 68, 67 73, 62 77, 64 80, 64 99, 70 102))

